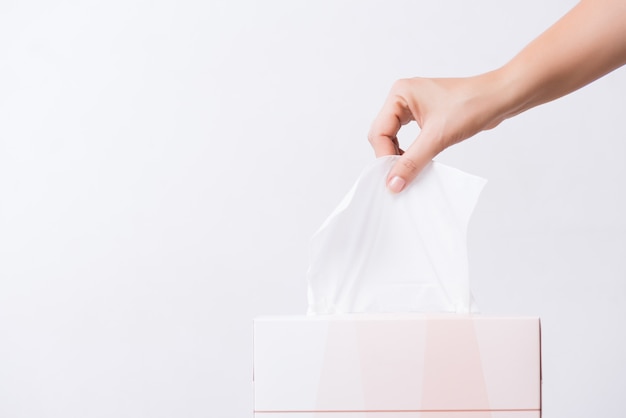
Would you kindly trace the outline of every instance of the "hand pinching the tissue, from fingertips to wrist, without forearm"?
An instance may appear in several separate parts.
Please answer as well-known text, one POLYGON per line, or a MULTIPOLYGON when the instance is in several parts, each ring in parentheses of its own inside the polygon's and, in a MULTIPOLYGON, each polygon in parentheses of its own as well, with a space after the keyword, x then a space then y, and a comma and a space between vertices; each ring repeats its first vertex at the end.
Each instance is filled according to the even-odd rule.
POLYGON ((368 139, 377 157, 402 155, 389 172, 387 187, 402 191, 437 154, 450 145, 497 126, 502 108, 497 73, 471 78, 411 78, 397 81, 374 120, 368 139), (421 131, 403 151, 397 134, 416 121, 421 131))

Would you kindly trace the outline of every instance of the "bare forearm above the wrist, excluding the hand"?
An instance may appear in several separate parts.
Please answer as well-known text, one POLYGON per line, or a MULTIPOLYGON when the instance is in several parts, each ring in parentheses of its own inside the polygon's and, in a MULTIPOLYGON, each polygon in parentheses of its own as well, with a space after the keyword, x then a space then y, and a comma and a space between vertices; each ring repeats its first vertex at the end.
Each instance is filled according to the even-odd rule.
POLYGON ((549 102, 626 64, 626 1, 583 0, 490 74, 506 95, 498 120, 549 102))

